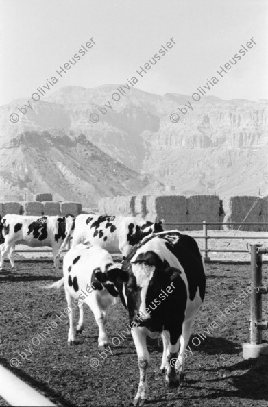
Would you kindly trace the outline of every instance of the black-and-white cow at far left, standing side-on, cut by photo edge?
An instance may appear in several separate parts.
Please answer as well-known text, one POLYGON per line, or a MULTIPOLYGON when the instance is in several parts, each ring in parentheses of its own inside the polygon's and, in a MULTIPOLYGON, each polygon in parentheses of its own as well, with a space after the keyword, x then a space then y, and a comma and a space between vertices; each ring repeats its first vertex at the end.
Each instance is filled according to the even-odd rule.
POLYGON ((59 260, 56 254, 66 235, 66 227, 73 216, 42 216, 32 217, 16 214, 6 214, 0 219, 0 270, 3 269, 5 254, 8 254, 12 269, 15 269, 14 250, 18 244, 29 247, 52 248, 54 266, 59 268, 59 260))

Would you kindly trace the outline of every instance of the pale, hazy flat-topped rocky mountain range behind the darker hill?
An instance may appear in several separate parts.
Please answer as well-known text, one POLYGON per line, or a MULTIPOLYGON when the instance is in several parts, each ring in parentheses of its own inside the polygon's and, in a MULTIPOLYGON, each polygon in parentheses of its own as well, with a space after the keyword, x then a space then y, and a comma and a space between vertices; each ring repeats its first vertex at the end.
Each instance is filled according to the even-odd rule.
MULTIPOLYGON (((265 99, 224 101, 208 95, 193 101, 187 95, 146 93, 131 84, 93 89, 66 86, 55 92, 50 90, 39 101, 19 99, 0 108, 0 154, 3 156, 1 145, 12 143, 19 133, 32 130, 40 135, 47 131, 51 136, 52 128, 58 129, 53 130, 55 143, 63 132, 70 143, 77 145, 78 136, 83 134, 91 149, 98 147, 103 151, 105 160, 109 157, 124 164, 125 171, 143 174, 138 185, 141 176, 133 173, 136 189, 132 193, 159 192, 169 185, 183 194, 243 195, 257 194, 259 190, 268 193, 267 108, 265 99), (23 106, 24 110, 19 111, 23 106), (10 122, 12 112, 19 114, 18 123, 10 122), (173 113, 178 114, 178 123, 171 122, 173 113)), ((38 143, 33 144, 37 149, 38 143)), ((67 150, 58 149, 62 155, 67 150)), ((72 171, 70 165, 66 162, 68 171, 72 171)), ((89 165, 88 157, 82 163, 85 171, 89 165)), ((75 173, 76 176, 82 175, 75 173)), ((42 180, 47 182, 45 175, 42 180)), ((85 181, 83 177, 82 180, 85 181)), ((103 175, 99 180, 103 180, 103 175)), ((117 181, 119 188, 122 180, 117 181)), ((68 182, 75 185, 77 179, 72 181, 69 176, 68 182)), ((92 185, 93 180, 88 182, 92 185)), ((122 188, 120 193, 126 194, 128 187, 122 184, 122 188)), ((98 193, 109 196, 111 191, 100 188, 98 193)), ((119 189, 112 190, 112 194, 117 193, 119 189)), ((72 194, 73 199, 80 197, 75 191, 72 194)))

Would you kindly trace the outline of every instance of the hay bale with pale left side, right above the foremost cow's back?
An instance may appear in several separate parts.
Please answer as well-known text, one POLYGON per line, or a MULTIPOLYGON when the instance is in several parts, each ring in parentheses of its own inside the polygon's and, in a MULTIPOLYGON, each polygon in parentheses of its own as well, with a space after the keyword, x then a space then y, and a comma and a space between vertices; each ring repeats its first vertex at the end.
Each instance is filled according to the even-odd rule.
MULTIPOLYGON (((148 195, 145 219, 157 222, 186 222, 186 197, 182 195, 148 195)), ((186 225, 166 225, 167 230, 186 230, 186 225)))

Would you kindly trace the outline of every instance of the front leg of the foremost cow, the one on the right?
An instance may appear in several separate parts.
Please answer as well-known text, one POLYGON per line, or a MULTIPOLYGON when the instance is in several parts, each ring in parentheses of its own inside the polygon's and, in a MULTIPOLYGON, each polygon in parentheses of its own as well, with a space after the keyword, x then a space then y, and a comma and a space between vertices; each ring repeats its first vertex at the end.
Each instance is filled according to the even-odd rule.
POLYGON ((180 384, 180 380, 177 375, 176 367, 178 365, 178 351, 180 350, 180 336, 178 337, 177 340, 175 340, 175 337, 178 337, 178 335, 172 335, 171 334, 171 340, 173 339, 173 343, 175 345, 171 345, 171 342, 169 342, 168 345, 168 350, 167 350, 167 374, 166 374, 166 383, 169 388, 175 388, 178 387, 180 384))

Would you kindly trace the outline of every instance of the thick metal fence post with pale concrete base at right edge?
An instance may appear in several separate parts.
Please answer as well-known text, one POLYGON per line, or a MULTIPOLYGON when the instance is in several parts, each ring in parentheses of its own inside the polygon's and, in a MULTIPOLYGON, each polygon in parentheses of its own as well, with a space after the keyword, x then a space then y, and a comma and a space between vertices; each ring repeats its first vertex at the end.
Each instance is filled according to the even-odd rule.
POLYGON ((250 297, 250 343, 243 343, 243 358, 258 358, 268 353, 267 343, 262 341, 262 330, 267 330, 267 321, 262 316, 262 295, 267 293, 267 287, 262 285, 263 280, 263 245, 251 246, 251 288, 250 297))

